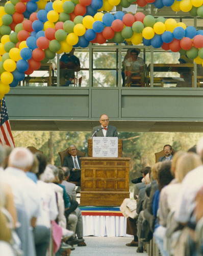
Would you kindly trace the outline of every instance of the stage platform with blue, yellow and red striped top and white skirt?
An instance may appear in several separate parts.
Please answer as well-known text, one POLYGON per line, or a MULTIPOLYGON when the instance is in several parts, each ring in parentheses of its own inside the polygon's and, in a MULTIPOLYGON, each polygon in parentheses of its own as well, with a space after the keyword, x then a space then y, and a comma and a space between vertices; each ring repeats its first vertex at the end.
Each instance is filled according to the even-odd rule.
POLYGON ((126 234, 126 218, 119 207, 80 206, 83 236, 130 237, 126 234))

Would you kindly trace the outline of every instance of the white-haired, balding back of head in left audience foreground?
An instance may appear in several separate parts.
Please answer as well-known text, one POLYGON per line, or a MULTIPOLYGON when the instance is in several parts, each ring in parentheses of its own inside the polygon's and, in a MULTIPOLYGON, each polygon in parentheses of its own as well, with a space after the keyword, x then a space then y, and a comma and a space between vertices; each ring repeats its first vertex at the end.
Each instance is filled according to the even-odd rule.
POLYGON ((16 147, 9 156, 8 166, 29 171, 33 161, 33 154, 27 148, 16 147))

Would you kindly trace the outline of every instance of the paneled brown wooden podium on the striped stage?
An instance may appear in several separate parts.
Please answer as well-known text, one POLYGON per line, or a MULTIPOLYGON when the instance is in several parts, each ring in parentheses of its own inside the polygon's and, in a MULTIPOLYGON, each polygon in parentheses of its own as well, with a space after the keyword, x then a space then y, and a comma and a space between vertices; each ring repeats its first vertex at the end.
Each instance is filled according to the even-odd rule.
MULTIPOLYGON (((92 156, 92 139, 88 154, 92 156)), ((82 157, 81 205, 119 206, 129 198, 130 158, 122 156, 122 140, 118 140, 118 157, 82 157), (121 151, 119 150, 121 148, 121 151)))

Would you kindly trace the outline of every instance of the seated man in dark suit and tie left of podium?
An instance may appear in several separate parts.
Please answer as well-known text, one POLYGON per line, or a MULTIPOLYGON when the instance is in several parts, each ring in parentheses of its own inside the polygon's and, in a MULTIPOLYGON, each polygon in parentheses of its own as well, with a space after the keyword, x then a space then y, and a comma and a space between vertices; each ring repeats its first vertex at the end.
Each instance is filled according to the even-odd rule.
POLYGON ((77 156, 76 146, 70 145, 68 153, 70 155, 64 158, 63 166, 67 166, 70 169, 69 181, 81 182, 81 160, 80 156, 77 156))

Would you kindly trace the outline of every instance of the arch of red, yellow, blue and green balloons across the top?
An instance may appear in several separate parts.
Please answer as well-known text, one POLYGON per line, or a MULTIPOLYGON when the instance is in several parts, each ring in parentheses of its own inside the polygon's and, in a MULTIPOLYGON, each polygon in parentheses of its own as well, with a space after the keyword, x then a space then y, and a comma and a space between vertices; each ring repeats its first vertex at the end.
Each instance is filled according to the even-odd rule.
POLYGON ((202 64, 203 30, 141 12, 110 13, 114 6, 128 8, 132 3, 140 7, 154 4, 158 9, 167 6, 174 12, 203 17, 203 0, 10 0, 1 6, 0 98, 25 75, 38 70, 41 63, 55 58, 56 53, 70 52, 73 46, 86 48, 90 42, 142 42, 145 46, 181 51, 202 64))

